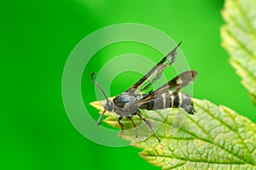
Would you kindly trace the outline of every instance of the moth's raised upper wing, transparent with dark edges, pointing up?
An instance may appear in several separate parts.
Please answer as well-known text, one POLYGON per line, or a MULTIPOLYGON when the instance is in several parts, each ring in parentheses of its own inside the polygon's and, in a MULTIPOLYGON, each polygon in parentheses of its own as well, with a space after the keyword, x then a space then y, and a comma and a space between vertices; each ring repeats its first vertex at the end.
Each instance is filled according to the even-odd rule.
POLYGON ((164 71, 166 67, 174 63, 177 55, 177 48, 180 44, 181 42, 179 42, 177 46, 173 48, 169 54, 166 55, 166 57, 161 59, 157 65, 155 65, 150 71, 148 71, 145 76, 143 76, 138 82, 131 86, 131 88, 128 88, 126 92, 134 93, 137 89, 143 91, 148 89, 151 84, 156 82, 160 78, 162 71, 164 71))

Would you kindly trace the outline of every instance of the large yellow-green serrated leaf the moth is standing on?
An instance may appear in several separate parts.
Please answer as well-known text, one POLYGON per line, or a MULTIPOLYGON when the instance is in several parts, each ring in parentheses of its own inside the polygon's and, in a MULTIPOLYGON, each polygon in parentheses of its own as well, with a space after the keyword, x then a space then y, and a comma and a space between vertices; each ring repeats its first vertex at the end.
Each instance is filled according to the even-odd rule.
MULTIPOLYGON (((102 111, 104 102, 93 102, 102 111)), ((207 100, 194 99, 196 113, 189 115, 182 109, 159 111, 142 110, 154 126, 160 142, 139 117, 133 120, 136 129, 124 118, 122 138, 142 149, 146 161, 162 169, 256 169, 256 125, 224 106, 207 100)), ((118 116, 106 112, 104 121, 119 128, 118 116)))

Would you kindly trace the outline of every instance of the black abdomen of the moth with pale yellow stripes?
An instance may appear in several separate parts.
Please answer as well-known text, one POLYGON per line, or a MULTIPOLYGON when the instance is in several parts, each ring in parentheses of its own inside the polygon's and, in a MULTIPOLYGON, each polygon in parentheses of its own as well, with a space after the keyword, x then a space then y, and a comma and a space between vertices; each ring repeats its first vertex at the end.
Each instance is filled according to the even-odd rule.
POLYGON ((160 110, 178 107, 183 108, 189 114, 195 113, 193 102, 188 94, 172 93, 171 91, 161 94, 155 99, 148 100, 148 102, 140 106, 140 109, 160 110))

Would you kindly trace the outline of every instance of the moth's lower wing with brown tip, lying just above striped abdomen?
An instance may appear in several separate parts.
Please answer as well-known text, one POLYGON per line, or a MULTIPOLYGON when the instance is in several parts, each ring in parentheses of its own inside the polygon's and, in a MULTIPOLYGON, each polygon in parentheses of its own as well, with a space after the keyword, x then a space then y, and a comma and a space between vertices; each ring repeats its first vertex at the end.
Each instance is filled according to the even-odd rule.
POLYGON ((154 91, 146 94, 143 99, 141 99, 138 103, 143 104, 148 100, 155 99, 156 96, 160 96, 161 94, 166 93, 169 90, 179 91, 184 86, 188 85, 190 82, 194 82, 197 77, 196 71, 184 71, 177 77, 174 77, 171 81, 167 82, 160 88, 157 88, 154 91))

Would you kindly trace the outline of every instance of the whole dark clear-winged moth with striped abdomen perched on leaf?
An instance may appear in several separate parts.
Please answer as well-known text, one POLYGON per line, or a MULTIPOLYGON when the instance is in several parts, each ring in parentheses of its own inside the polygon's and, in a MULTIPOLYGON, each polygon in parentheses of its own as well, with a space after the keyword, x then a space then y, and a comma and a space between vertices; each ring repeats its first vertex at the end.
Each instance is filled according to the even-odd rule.
POLYGON ((113 100, 108 99, 101 86, 96 82, 94 78, 96 73, 93 72, 90 75, 91 80, 95 83, 97 88, 101 90, 102 94, 107 99, 107 103, 104 105, 104 111, 98 118, 97 125, 101 124, 102 116, 104 115, 105 111, 114 111, 117 115, 119 115, 118 122, 121 127, 120 136, 124 131, 124 125, 121 122, 124 117, 131 121, 133 127, 136 127, 138 136, 139 132, 137 125, 132 120, 132 117, 137 115, 148 124, 155 137, 160 141, 160 138, 157 133, 155 133, 151 122, 140 114, 140 109, 154 111, 166 108, 183 108, 183 110, 188 114, 194 115, 195 109, 191 97, 188 94, 181 93, 180 90, 190 82, 195 81, 195 78, 197 77, 196 71, 184 71, 177 77, 172 78, 171 81, 166 82, 160 88, 151 90, 148 93, 143 93, 143 91, 152 86, 152 84, 161 77, 162 71, 175 62, 177 48, 180 46, 180 44, 181 42, 179 42, 169 54, 161 59, 157 65, 154 65, 154 67, 148 71, 146 75, 132 85, 131 88, 128 88, 124 93, 119 94, 113 100))

